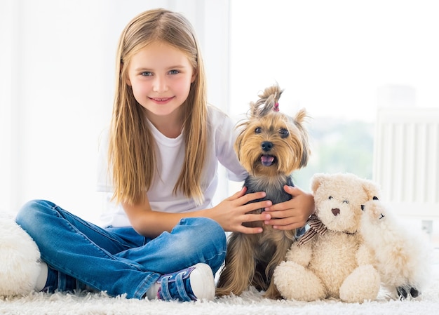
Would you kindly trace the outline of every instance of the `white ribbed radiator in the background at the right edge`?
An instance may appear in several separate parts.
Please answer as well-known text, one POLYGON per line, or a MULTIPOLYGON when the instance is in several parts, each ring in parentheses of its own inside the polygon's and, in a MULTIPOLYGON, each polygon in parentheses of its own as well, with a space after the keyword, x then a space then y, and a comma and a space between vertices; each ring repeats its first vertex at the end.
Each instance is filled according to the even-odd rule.
POLYGON ((404 217, 439 220, 439 108, 380 108, 373 180, 404 217))

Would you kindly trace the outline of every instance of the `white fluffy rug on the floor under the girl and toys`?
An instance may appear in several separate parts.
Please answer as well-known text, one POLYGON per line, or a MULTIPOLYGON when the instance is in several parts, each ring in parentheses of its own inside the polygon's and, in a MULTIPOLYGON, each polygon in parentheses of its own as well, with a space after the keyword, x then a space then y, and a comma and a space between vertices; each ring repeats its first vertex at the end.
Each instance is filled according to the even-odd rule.
POLYGON ((128 300, 108 297, 103 293, 53 295, 34 293, 27 297, 1 298, 0 314, 294 314, 294 315, 435 315, 439 314, 439 266, 435 265, 431 283, 420 297, 414 300, 391 300, 382 290, 376 301, 349 304, 337 300, 318 302, 273 301, 264 299, 255 290, 241 297, 222 297, 214 301, 162 302, 128 300))

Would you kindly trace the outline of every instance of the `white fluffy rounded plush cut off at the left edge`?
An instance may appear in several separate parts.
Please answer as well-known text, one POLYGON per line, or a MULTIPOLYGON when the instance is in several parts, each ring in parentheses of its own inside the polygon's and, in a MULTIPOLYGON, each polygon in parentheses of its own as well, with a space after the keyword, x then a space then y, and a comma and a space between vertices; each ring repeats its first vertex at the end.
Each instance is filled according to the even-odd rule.
POLYGON ((27 295, 40 273, 36 243, 11 215, 0 215, 0 296, 27 295))

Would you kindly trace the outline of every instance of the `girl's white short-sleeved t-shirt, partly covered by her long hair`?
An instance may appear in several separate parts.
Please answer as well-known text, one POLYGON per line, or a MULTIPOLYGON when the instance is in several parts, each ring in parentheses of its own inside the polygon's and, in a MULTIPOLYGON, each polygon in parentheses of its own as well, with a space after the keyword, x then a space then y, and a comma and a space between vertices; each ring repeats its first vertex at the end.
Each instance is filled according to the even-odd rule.
MULTIPOLYGON (((236 140, 234 122, 219 109, 209 106, 208 139, 210 141, 208 142, 205 169, 201 175, 201 189, 204 192, 205 201, 201 206, 196 206, 193 199, 187 199, 180 192, 173 194, 175 182, 177 182, 184 161, 183 135, 181 134, 177 138, 166 138, 152 123, 149 121, 148 123, 158 148, 158 152, 156 152, 158 172, 154 174, 151 188, 147 192, 153 210, 167 213, 185 213, 212 208, 212 199, 218 185, 218 162, 226 168, 229 180, 242 181, 247 176, 234 151, 234 142, 236 140)), ((104 227, 128 227, 131 224, 122 206, 110 201, 113 195, 113 186, 112 175, 108 173, 107 168, 108 143, 107 133, 102 138, 100 145, 97 176, 97 190, 107 192, 107 209, 101 216, 101 224, 104 227)))

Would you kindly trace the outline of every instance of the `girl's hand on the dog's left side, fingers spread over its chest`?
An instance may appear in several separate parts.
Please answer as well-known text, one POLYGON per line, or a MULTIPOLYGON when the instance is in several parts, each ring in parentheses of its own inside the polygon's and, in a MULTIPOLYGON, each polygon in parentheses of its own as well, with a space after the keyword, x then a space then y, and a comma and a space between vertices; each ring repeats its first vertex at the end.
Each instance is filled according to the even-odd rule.
POLYGON ((262 227, 244 227, 243 222, 255 222, 270 220, 269 213, 249 214, 252 210, 271 206, 271 201, 258 201, 248 203, 255 199, 264 198, 265 192, 245 194, 247 188, 243 187, 240 192, 225 199, 214 208, 210 209, 210 215, 216 220, 226 232, 241 232, 245 234, 256 234, 262 232, 262 227))

